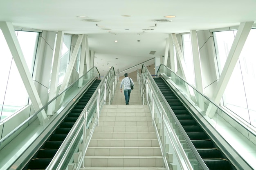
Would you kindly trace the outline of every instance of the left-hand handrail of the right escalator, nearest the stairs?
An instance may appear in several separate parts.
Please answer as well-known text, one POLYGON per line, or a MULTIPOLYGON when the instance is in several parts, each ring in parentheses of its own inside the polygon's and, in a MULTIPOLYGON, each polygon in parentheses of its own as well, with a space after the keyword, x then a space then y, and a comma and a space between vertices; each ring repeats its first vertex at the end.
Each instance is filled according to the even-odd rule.
MULTIPOLYGON (((143 67, 146 69, 146 72, 149 73, 148 68, 146 68, 146 66, 142 65, 142 69, 141 69, 141 73, 143 70, 143 67)), ((151 74, 148 74, 150 76, 147 76, 148 78, 152 78, 153 76, 151 76, 151 74)), ((155 83, 154 80, 150 80, 151 83, 153 83, 153 86, 155 86, 155 88, 157 89, 157 91, 159 92, 159 95, 164 99, 164 103, 166 105, 166 107, 168 108, 168 110, 170 111, 171 115, 174 118, 175 123, 177 124, 178 128, 180 129, 183 137, 185 138, 186 142, 189 145, 189 148, 191 149, 191 151, 193 152, 193 155, 195 155, 195 158, 197 159, 198 163, 200 163, 200 166, 202 166, 203 169, 208 169, 208 167, 206 166, 206 164, 204 163, 204 161, 202 160, 201 156, 199 155, 198 151, 196 150, 195 146, 193 145, 193 143, 191 142, 191 140, 189 139, 189 136, 187 135, 187 133, 185 132, 185 130, 183 129, 182 125, 180 124, 180 121, 177 119, 177 117, 175 116, 173 110, 171 109, 170 105, 168 104, 168 102, 166 101, 164 95, 162 94, 161 90, 159 89, 159 87, 157 86, 157 84, 155 83)), ((167 116, 167 115, 166 115, 167 116)), ((169 124, 170 125, 170 124, 169 124)), ((178 146, 181 146, 180 142, 178 142, 178 146)), ((182 147, 180 148, 180 150, 184 150, 182 147)), ((185 159, 188 161, 188 158, 185 156, 185 159)))

